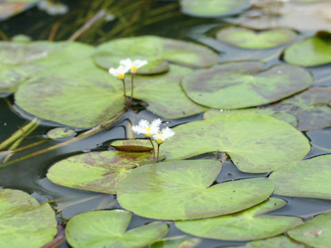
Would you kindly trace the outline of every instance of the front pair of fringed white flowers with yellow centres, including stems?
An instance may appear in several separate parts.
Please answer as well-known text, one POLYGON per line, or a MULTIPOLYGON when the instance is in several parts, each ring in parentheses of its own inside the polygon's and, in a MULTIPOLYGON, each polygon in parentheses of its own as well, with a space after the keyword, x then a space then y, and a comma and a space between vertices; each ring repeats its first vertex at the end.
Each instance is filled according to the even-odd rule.
POLYGON ((147 120, 140 120, 138 125, 132 126, 132 131, 136 134, 145 134, 150 143, 152 143, 154 159, 155 161, 155 148, 152 142, 152 139, 157 143, 157 161, 159 161, 159 149, 160 145, 165 141, 165 139, 174 136, 174 131, 169 127, 165 127, 163 130, 160 130, 161 119, 157 118, 152 123, 149 123, 147 120))

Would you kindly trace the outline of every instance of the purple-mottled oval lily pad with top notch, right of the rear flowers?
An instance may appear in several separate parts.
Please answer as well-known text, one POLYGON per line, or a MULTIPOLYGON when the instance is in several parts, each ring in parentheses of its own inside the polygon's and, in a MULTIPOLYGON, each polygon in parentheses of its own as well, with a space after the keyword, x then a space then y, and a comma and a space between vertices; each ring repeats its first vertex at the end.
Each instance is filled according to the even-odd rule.
POLYGON ((236 109, 272 103, 305 90, 310 72, 293 65, 261 71, 259 61, 222 63, 184 77, 182 86, 195 103, 217 109, 236 109))

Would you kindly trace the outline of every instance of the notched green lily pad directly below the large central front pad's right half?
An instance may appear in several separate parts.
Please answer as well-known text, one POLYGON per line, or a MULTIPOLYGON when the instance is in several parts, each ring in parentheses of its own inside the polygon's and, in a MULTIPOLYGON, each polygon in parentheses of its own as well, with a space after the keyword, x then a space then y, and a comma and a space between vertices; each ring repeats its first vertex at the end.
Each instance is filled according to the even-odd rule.
POLYGON ((298 217, 265 214, 285 204, 285 200, 270 198, 237 214, 202 220, 176 221, 175 225, 181 231, 203 238, 243 241, 269 238, 303 223, 298 217))

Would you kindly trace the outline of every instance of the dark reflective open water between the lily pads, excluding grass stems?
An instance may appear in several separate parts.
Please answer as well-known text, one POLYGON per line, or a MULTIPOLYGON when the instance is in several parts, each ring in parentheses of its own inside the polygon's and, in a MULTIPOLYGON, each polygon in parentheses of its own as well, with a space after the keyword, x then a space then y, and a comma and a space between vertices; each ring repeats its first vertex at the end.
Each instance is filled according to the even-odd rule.
MULTIPOLYGON (((80 6, 86 6, 88 2, 89 1, 67 1, 66 3, 69 4, 70 9, 74 10, 75 8, 79 9, 79 3, 81 4, 80 6)), ((159 1, 154 4, 154 7, 159 8, 160 6, 166 6, 167 4, 174 4, 174 2, 159 1)), ((81 7, 81 9, 83 9, 83 7, 81 7)), ((281 50, 283 50, 284 47, 252 51, 233 48, 230 45, 225 45, 219 41, 216 41, 216 39, 212 37, 212 31, 209 31, 215 27, 224 25, 224 22, 221 19, 197 19, 187 17, 181 14, 178 8, 174 8, 172 12, 174 14, 169 15, 168 19, 165 18, 164 20, 152 23, 146 27, 136 28, 134 31, 127 35, 157 34, 163 37, 194 40, 209 45, 211 48, 219 52, 219 61, 262 59, 266 63, 265 68, 268 68, 270 65, 283 63, 279 59, 278 54, 281 52, 281 50)), ((47 14, 37 10, 37 8, 32 8, 31 10, 19 14, 18 16, 13 17, 8 21, 3 21, 0 23, 0 27, 2 28, 3 32, 8 35, 8 37, 12 37, 19 33, 26 33, 32 36, 33 39, 47 39, 47 35, 50 32, 52 24, 54 24, 54 22, 56 22, 59 18, 60 17, 49 17, 47 14)), ((61 39, 66 39, 70 37, 70 24, 64 23, 63 25, 65 25, 69 31, 68 34, 63 33, 61 39)), ((112 30, 111 23, 108 29, 112 30)), ((72 28, 71 32, 74 31, 74 28, 72 28)), ((121 32, 114 35, 114 37, 121 36, 125 35, 121 32)), ((306 36, 307 34, 301 34, 299 39, 303 39, 303 37, 306 36)), ((90 38, 87 33, 86 35, 83 35, 79 41, 97 44, 101 39, 100 37, 102 37, 101 34, 96 34, 90 38)), ((312 85, 313 87, 331 86, 331 65, 320 66, 308 70, 312 72, 314 75, 314 80, 317 82, 316 84, 312 85)), ((8 100, 13 103, 11 96, 8 96, 8 100)), ((10 134, 17 131, 19 127, 26 123, 26 118, 32 118, 32 116, 25 114, 15 106, 14 109, 18 110, 18 112, 8 107, 8 104, 0 99, 0 141, 3 141, 4 139, 8 138, 10 134), (22 116, 24 116, 24 118, 22 116)), ((168 121, 168 126, 174 127, 175 125, 180 125, 188 121, 201 120, 201 116, 202 114, 198 114, 196 116, 182 118, 179 120, 162 119, 168 121)), ((141 118, 153 119, 155 117, 156 116, 154 116, 154 114, 146 110, 143 110, 138 114, 130 110, 109 130, 103 130, 99 134, 90 136, 89 138, 83 139, 77 143, 72 143, 46 154, 30 158, 26 161, 21 161, 20 163, 15 163, 14 165, 10 165, 8 167, 0 168, 0 187, 21 189, 24 192, 31 194, 31 196, 39 200, 40 203, 44 203, 49 200, 56 200, 57 203, 55 203, 53 206, 58 210, 57 218, 60 223, 66 223, 68 218, 93 209, 121 208, 117 203, 116 198, 112 195, 85 192, 78 189, 70 189, 68 187, 55 185, 46 178, 46 172, 53 163, 63 158, 72 156, 73 154, 89 152, 90 150, 106 150, 109 149, 108 145, 112 141, 119 138, 128 138, 128 127, 130 126, 127 118, 130 118, 132 122, 137 123, 137 121, 141 118)), ((56 126, 56 124, 50 123, 48 121, 42 122, 37 130, 30 134, 29 138, 24 139, 21 146, 43 139, 43 135, 46 134, 48 130, 52 129, 50 126, 54 125, 56 126)), ((305 132, 305 135, 313 144, 307 158, 321 154, 331 154, 331 127, 325 128, 323 130, 305 132)), ((32 152, 38 151, 39 149, 44 149, 55 144, 57 144, 57 141, 48 141, 47 143, 43 143, 38 147, 19 152, 18 154, 15 154, 12 159, 19 158, 26 154, 30 154, 32 152)), ((201 156, 195 157, 194 159, 201 158, 216 159, 216 154, 203 154, 201 156)), ((257 176, 268 176, 268 174, 248 174, 239 172, 237 167, 235 167, 231 161, 223 161, 223 168, 221 169, 221 173, 216 180, 220 183, 228 180, 252 178, 257 176)), ((331 210, 331 200, 292 198, 276 195, 274 197, 283 198, 288 202, 288 204, 281 209, 277 209, 271 213, 275 215, 300 216, 301 218, 308 219, 321 212, 331 210)), ((133 215, 129 229, 139 227, 151 221, 152 220, 148 218, 142 218, 140 216, 133 215)), ((174 227, 171 222, 167 223, 170 225, 170 230, 167 236, 179 236, 183 234, 183 232, 174 227)), ((244 243, 245 242, 226 242, 203 239, 203 242, 201 242, 199 247, 224 247, 226 245, 243 245, 244 243)), ((63 243, 59 247, 68 247, 68 245, 63 243)))

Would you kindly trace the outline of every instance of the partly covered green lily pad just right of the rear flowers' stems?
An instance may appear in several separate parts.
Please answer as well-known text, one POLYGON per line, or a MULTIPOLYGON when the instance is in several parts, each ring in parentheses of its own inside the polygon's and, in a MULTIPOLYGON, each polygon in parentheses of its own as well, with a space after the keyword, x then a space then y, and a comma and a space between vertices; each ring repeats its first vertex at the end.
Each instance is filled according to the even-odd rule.
MULTIPOLYGON (((147 110, 163 118, 182 118, 199 114, 207 107, 193 103, 181 89, 183 76, 192 70, 170 65, 170 72, 156 76, 137 76, 134 79, 134 99, 146 101, 147 110)), ((131 91, 128 90, 128 96, 131 91)))

